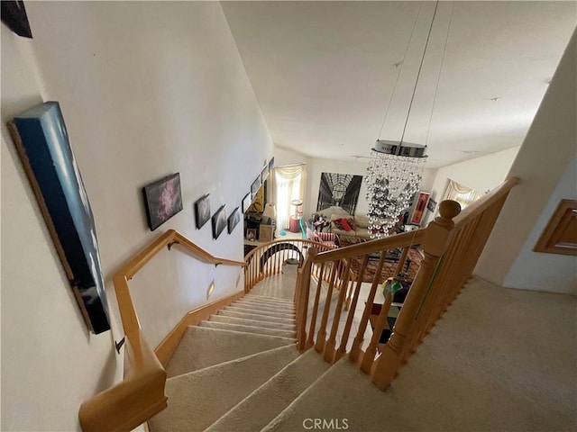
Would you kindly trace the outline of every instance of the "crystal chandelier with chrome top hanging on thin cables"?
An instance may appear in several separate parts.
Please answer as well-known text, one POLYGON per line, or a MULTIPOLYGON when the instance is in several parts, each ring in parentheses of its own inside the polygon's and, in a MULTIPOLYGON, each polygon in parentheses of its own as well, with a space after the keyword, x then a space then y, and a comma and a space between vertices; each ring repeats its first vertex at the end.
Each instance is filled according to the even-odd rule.
MULTIPOLYGON (((426 47, 428 46, 431 30, 433 29, 433 23, 435 22, 435 15, 438 4, 439 2, 437 0, 435 4, 435 12, 433 13, 433 18, 431 20, 429 31, 426 37, 425 49, 423 50, 423 55, 418 68, 417 79, 415 80, 415 86, 413 87, 413 94, 408 105, 407 119, 405 120, 402 136, 398 141, 377 139, 374 148, 371 148, 371 158, 369 166, 367 167, 367 175, 365 176, 365 181, 367 183, 367 200, 369 201, 368 229, 371 238, 381 238, 389 235, 389 230, 398 223, 399 216, 404 211, 408 210, 415 193, 418 191, 421 179, 423 178, 423 168, 426 161, 426 146, 408 143, 403 139, 405 138, 408 118, 410 116, 411 107, 413 105, 413 100, 417 91, 418 78, 423 67, 426 47)), ((420 8, 418 14, 420 14, 420 8)), ((415 31, 415 26, 417 25, 418 14, 415 23, 413 24, 413 33, 415 31)), ((453 9, 451 11, 451 15, 453 15, 453 9)), ((408 46, 410 45, 410 40, 413 38, 413 33, 411 33, 408 46)), ((447 28, 447 39, 448 34, 449 27, 447 28)), ((444 41, 444 49, 446 49, 447 39, 444 41)), ((405 51, 405 57, 407 56, 407 51, 408 47, 405 51)), ((404 64, 405 57, 395 66, 398 67, 399 65, 404 64)), ((443 60, 441 62, 441 67, 443 67, 443 60)), ((397 74, 397 81, 393 87, 393 95, 395 94, 395 89, 397 88, 399 75, 400 69, 397 74)), ((439 76, 437 76, 437 88, 440 75, 441 69, 439 69, 439 76)), ((387 112, 385 112, 385 120, 383 120, 380 130, 381 132, 387 118, 387 113, 389 112, 389 107, 387 108, 387 112)), ((433 109, 435 109, 435 97, 433 109)), ((431 117, 432 114, 433 112, 431 112, 431 117)), ((430 121, 431 119, 429 119, 429 127, 430 121)))

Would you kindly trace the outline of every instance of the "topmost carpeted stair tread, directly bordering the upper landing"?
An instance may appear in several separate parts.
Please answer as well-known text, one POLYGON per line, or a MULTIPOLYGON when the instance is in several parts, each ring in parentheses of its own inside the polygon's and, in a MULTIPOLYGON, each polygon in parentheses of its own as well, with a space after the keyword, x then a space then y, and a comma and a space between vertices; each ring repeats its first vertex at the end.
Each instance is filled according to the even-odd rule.
POLYGON ((262 384, 206 431, 252 432, 261 430, 319 376, 325 374, 329 367, 330 365, 315 350, 308 350, 262 384))

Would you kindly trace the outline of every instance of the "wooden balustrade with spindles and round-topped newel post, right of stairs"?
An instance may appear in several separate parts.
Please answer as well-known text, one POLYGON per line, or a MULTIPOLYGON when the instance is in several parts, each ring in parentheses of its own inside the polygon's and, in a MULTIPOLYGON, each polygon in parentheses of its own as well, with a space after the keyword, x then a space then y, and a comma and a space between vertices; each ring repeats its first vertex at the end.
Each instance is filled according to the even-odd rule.
MULTIPOLYGON (((441 202, 440 215, 424 229, 325 252, 319 252, 316 248, 310 249, 298 275, 298 348, 305 350, 315 347, 330 363, 348 354, 365 374, 371 374, 373 383, 380 389, 388 388, 400 367, 408 361, 408 357, 472 276, 508 192, 517 182, 517 178, 509 179, 463 212, 457 202, 441 202), (362 313, 357 312, 370 254, 380 253, 375 275, 381 275, 388 253, 395 248, 401 248, 402 255, 392 272, 392 275, 397 275, 405 266, 409 249, 416 245, 420 245, 424 257, 388 342, 380 344, 380 336, 385 329, 392 302, 390 292, 385 296, 378 318, 375 320, 374 315, 372 317, 371 324, 374 329, 371 340, 368 344, 364 343, 375 294, 380 286, 380 279, 375 277, 362 313), (351 271, 353 264, 354 272, 351 271), (320 302, 322 282, 312 277, 319 272, 328 274, 324 304, 320 302), (341 275, 340 279, 338 275, 341 275), (311 281, 316 283, 312 293, 311 281), (337 285, 345 289, 341 289, 334 300, 333 290, 337 285), (312 311, 309 311, 310 302, 313 303, 312 311), (342 324, 341 316, 343 310, 347 309, 348 312, 344 313, 348 314, 342 324), (332 326, 327 329, 329 316, 332 318, 332 326), (350 350, 347 351, 353 321, 356 322, 358 331, 354 335, 350 350), (337 341, 339 331, 341 337, 337 341)), ((374 255, 372 258, 374 259, 374 255)))

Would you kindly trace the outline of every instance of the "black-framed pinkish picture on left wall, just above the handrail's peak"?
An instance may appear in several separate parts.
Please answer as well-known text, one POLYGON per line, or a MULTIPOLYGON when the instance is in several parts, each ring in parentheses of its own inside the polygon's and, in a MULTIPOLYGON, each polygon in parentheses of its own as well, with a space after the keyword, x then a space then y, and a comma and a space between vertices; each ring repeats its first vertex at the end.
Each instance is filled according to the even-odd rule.
POLYGON ((182 211, 179 173, 167 175, 142 187, 148 226, 153 231, 182 211))

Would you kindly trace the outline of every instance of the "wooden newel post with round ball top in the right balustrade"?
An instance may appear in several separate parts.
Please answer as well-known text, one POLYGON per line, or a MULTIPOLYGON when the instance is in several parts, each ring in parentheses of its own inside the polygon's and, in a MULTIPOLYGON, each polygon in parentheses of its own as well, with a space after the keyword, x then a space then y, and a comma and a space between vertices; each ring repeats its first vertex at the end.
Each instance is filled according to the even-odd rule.
POLYGON ((443 255, 444 250, 449 244, 454 228, 453 218, 460 212, 461 205, 459 202, 450 200, 441 202, 439 204, 440 216, 437 216, 435 220, 426 227, 426 236, 422 244, 425 258, 421 262, 417 276, 408 292, 407 299, 398 314, 398 319, 395 322, 389 342, 385 345, 372 376, 372 382, 375 383, 380 390, 389 388, 390 383, 401 366, 403 354, 410 342, 417 311, 433 279, 439 258, 443 255))

